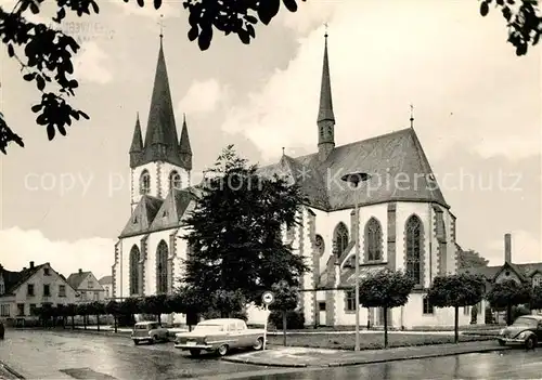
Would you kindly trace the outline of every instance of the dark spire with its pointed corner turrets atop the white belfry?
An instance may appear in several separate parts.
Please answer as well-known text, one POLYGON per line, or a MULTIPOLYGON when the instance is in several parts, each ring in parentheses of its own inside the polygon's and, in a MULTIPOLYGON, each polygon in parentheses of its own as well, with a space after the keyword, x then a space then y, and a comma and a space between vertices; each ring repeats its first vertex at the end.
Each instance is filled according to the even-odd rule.
POLYGON ((184 116, 180 140, 177 134, 162 31, 145 141, 143 142, 138 114, 130 147, 130 168, 155 161, 169 162, 186 170, 192 169, 192 148, 184 116))

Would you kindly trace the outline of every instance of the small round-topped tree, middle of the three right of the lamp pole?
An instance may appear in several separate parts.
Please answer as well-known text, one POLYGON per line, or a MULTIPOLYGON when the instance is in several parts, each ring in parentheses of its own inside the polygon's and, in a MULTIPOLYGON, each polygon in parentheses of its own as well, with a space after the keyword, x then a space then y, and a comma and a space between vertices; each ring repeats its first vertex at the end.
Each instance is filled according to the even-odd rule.
POLYGON ((462 273, 437 276, 433 280, 427 298, 437 307, 454 309, 455 343, 460 340, 460 307, 476 305, 482 300, 485 290, 485 280, 478 275, 462 273))

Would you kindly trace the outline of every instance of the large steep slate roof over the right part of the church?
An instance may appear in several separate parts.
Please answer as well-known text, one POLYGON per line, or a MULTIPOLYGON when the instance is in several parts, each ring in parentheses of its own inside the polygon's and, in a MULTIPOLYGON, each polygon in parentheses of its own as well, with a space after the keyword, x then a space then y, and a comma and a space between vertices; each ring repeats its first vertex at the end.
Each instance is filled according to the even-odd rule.
POLYGON ((261 175, 289 176, 298 183, 311 207, 335 211, 388 201, 427 201, 450 208, 412 128, 337 146, 325 161, 318 154, 293 158, 260 168, 261 175), (371 174, 361 189, 340 178, 351 172, 371 174))

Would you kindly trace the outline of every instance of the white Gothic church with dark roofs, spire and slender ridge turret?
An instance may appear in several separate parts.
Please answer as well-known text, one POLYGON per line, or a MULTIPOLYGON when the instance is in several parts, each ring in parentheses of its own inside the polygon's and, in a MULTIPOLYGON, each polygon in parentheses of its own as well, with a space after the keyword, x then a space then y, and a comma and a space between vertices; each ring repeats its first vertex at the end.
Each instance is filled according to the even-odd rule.
MULTIPOLYGON (((453 310, 434 307, 426 293, 435 276, 457 272, 456 219, 413 118, 410 128, 337 146, 327 35, 321 81, 315 152, 283 154, 260 169, 261 175, 288 176, 307 197, 300 225, 284 232, 311 268, 301 278, 306 325, 354 325, 359 239, 361 276, 402 270, 416 281, 408 304, 389 311, 391 327, 452 326, 453 310), (367 180, 354 188, 341 180, 349 173, 364 173, 367 180)), ((132 214, 115 245, 113 265, 113 297, 120 299, 172 292, 186 257, 183 220, 197 200, 188 126, 183 119, 179 139, 162 38, 144 141, 142 135, 138 116, 130 147, 132 214)), ((380 310, 362 309, 360 315, 362 326, 383 325, 380 310)), ((460 318, 461 325, 470 320, 460 318)))

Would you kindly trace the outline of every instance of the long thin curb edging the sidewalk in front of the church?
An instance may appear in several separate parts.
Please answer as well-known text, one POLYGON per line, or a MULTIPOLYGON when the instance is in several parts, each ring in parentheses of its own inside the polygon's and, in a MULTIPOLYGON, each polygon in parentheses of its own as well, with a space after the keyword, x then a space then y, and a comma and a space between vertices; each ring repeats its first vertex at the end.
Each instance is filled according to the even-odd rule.
POLYGON ((387 362, 403 362, 403 361, 414 361, 414 359, 423 359, 423 358, 431 358, 431 357, 444 357, 444 356, 456 356, 464 354, 476 354, 476 353, 487 353, 494 351, 507 351, 512 350, 512 346, 494 346, 494 348, 485 348, 477 349, 464 352, 451 352, 451 353, 440 353, 440 354, 427 354, 427 355, 413 355, 408 357, 393 357, 393 358, 385 358, 385 359, 362 359, 362 361, 352 361, 346 363, 328 363, 327 365, 307 365, 305 363, 299 364, 280 364, 280 363, 269 363, 263 361, 251 361, 251 359, 242 359, 236 357, 228 357, 222 358, 224 362, 231 363, 241 363, 241 364, 251 364, 256 366, 266 366, 266 367, 283 367, 283 368, 325 368, 325 367, 348 367, 348 366, 359 366, 364 364, 378 364, 378 363, 387 363, 387 362))

